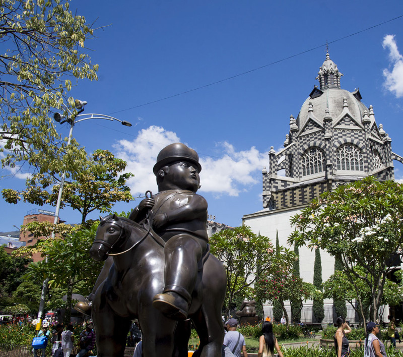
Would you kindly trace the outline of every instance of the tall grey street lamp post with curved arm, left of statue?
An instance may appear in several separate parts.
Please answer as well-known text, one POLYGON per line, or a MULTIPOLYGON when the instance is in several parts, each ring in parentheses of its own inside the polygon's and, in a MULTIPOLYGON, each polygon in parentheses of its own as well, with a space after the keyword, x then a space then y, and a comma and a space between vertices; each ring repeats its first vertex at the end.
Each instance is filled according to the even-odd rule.
MULTIPOLYGON (((64 115, 60 114, 60 113, 54 113, 53 118, 57 123, 63 124, 63 123, 69 123, 70 124, 70 131, 69 131, 69 137, 67 140, 67 146, 70 145, 70 142, 72 141, 72 137, 73 137, 73 128, 74 125, 79 123, 79 122, 83 122, 85 120, 89 120, 89 119, 104 119, 104 120, 109 120, 109 121, 116 121, 119 122, 121 125, 124 125, 126 127, 131 127, 131 123, 126 122, 126 121, 121 121, 113 116, 109 116, 109 115, 104 115, 104 114, 81 114, 84 111, 84 107, 87 104, 86 101, 81 101, 79 99, 76 99, 75 101, 75 106, 77 109, 79 109, 78 113, 76 115, 73 115, 70 110, 69 110, 69 116, 66 117, 64 119, 64 115), (79 118, 79 119, 77 119, 79 118)), ((60 186, 59 186, 59 193, 57 196, 57 202, 56 202, 56 209, 54 212, 54 221, 53 224, 57 224, 58 220, 59 220, 59 212, 60 212, 60 204, 61 204, 61 195, 63 193, 63 186, 64 186, 64 179, 65 179, 65 172, 63 171, 61 173, 61 177, 60 177, 60 186)), ((55 233, 54 230, 52 232, 51 238, 55 237, 55 233)), ((47 257, 45 258, 45 261, 47 261, 47 257)), ((43 310, 45 307, 45 298, 46 298, 46 294, 47 294, 47 286, 48 286, 48 281, 49 279, 46 278, 43 281, 43 285, 42 285, 42 293, 41 293, 41 301, 39 304, 39 311, 38 311, 38 318, 37 318, 37 324, 36 324, 36 330, 38 331, 41 327, 41 322, 42 322, 42 316, 43 316, 43 310)))

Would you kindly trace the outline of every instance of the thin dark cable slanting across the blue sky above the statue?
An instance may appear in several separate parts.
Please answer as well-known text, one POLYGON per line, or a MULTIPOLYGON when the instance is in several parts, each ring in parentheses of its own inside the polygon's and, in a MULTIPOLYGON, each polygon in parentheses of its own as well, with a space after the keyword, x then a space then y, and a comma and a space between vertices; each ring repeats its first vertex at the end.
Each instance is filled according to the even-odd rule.
POLYGON ((140 107, 145 106, 145 105, 150 105, 150 104, 158 103, 158 102, 163 101, 163 100, 166 100, 166 99, 171 99, 171 98, 177 97, 177 96, 179 96, 179 95, 183 95, 183 94, 186 94, 186 93, 194 92, 194 91, 196 91, 196 90, 203 89, 203 88, 207 88, 207 87, 213 86, 213 85, 218 84, 218 83, 222 83, 222 82, 225 82, 225 81, 229 81, 230 79, 234 79, 234 78, 236 78, 236 77, 244 76, 244 75, 246 75, 246 74, 248 74, 248 73, 255 72, 255 71, 261 70, 261 69, 263 69, 263 68, 276 65, 276 64, 278 64, 278 63, 280 63, 280 62, 283 62, 283 61, 287 61, 287 59, 294 58, 294 57, 300 56, 301 54, 314 51, 315 49, 318 49, 318 48, 320 48, 320 47, 327 46, 327 45, 329 45, 330 43, 338 42, 338 41, 344 40, 344 39, 346 39, 346 38, 349 38, 349 37, 358 35, 358 34, 360 34, 360 33, 362 33, 362 32, 365 32, 365 31, 371 30, 371 29, 373 29, 373 28, 375 28, 375 27, 384 25, 384 24, 386 24, 386 23, 388 23, 388 22, 391 22, 391 21, 400 19, 401 17, 403 17, 403 15, 400 15, 400 16, 397 16, 397 17, 395 17, 395 18, 393 18, 393 19, 390 19, 390 20, 381 22, 381 23, 379 23, 379 24, 376 24, 376 25, 367 27, 367 28, 364 29, 364 30, 360 30, 360 31, 354 32, 354 33, 352 33, 352 34, 350 34, 350 35, 340 37, 340 38, 338 38, 338 39, 336 39, 336 40, 333 40, 333 41, 326 41, 326 43, 321 44, 321 45, 319 45, 319 46, 316 46, 316 47, 307 49, 307 50, 305 50, 305 51, 302 51, 302 52, 293 54, 293 55, 291 55, 291 56, 288 56, 288 57, 279 59, 278 61, 274 61, 274 62, 268 63, 268 64, 266 64, 266 65, 263 65, 263 66, 254 68, 254 69, 252 69, 252 70, 249 70, 249 71, 246 71, 246 72, 242 72, 242 73, 238 73, 238 74, 233 75, 233 76, 231 76, 231 77, 227 77, 227 78, 224 78, 224 79, 220 79, 220 80, 218 80, 218 81, 215 81, 215 82, 212 82, 212 83, 209 83, 209 84, 205 84, 205 85, 203 85, 203 86, 196 87, 196 88, 193 88, 193 89, 189 89, 189 90, 186 90, 186 91, 184 91, 184 92, 176 93, 176 94, 170 95, 170 96, 168 96, 168 97, 164 97, 164 98, 152 100, 152 101, 150 101, 150 102, 143 103, 143 104, 139 104, 139 105, 136 105, 136 106, 132 106, 132 107, 130 107, 130 108, 126 108, 126 109, 121 109, 121 110, 113 111, 113 112, 109 113, 109 115, 110 115, 110 114, 115 114, 115 113, 120 113, 120 112, 122 112, 122 111, 130 110, 130 109, 140 108, 140 107))

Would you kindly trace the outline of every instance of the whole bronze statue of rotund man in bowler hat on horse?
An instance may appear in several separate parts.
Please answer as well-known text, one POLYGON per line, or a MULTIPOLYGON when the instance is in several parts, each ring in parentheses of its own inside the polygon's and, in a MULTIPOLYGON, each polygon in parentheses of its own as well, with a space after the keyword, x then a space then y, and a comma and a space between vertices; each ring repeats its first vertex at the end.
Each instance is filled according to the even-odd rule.
POLYGON ((135 318, 145 357, 187 356, 189 319, 200 337, 194 356, 221 356, 226 273, 209 253, 200 170, 194 150, 168 145, 154 166, 158 194, 146 195, 129 219, 101 220, 91 256, 113 262, 92 294, 98 356, 123 355, 135 318))

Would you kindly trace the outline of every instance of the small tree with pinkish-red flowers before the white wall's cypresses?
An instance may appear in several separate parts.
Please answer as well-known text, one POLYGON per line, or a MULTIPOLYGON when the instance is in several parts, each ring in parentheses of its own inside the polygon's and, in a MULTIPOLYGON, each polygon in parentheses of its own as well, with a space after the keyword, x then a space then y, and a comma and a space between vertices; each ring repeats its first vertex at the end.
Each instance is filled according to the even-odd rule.
POLYGON ((316 291, 313 284, 304 282, 299 276, 293 274, 289 264, 279 264, 271 272, 265 272, 255 284, 256 297, 262 301, 278 303, 283 309, 288 328, 288 313, 285 308, 287 300, 302 302, 312 297, 320 297, 321 292, 316 291))

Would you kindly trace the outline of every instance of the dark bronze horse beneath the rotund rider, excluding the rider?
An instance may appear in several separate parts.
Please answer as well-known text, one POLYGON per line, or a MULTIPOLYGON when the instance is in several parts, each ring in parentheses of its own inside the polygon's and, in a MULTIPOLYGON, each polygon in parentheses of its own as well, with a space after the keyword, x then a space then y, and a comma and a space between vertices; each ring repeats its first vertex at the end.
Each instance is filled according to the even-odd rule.
POLYGON ((187 356, 190 320, 200 338, 193 355, 221 357, 224 267, 208 253, 197 274, 190 320, 169 319, 152 306, 153 296, 164 287, 164 243, 146 225, 115 215, 101 219, 90 254, 98 261, 112 256, 113 264, 97 288, 92 305, 99 357, 123 356, 131 320, 135 318, 143 332, 145 357, 187 356))

